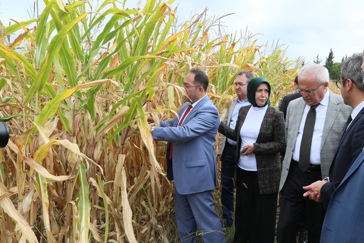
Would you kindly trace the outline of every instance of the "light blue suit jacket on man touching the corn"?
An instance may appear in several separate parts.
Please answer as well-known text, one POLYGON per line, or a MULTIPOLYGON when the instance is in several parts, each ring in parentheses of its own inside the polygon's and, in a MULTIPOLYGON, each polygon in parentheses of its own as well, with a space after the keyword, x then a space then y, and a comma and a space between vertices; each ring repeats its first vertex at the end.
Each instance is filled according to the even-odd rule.
MULTIPOLYGON (((188 105, 190 103, 182 105, 179 117, 188 105)), ((176 190, 180 194, 191 194, 215 189, 215 141, 220 123, 217 108, 206 95, 185 117, 182 126, 177 126, 178 122, 177 117, 161 121, 160 127, 155 127, 153 132, 155 140, 173 141, 172 169, 176 190)))

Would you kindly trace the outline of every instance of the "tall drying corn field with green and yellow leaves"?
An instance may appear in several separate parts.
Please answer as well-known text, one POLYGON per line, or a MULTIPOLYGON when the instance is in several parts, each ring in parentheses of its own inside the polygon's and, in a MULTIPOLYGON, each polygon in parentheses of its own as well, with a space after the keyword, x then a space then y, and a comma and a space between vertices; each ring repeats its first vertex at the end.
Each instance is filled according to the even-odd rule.
POLYGON ((173 0, 125 2, 44 0, 39 16, 0 27, 0 121, 10 130, 0 242, 178 241, 166 144, 152 140, 149 115, 177 114, 193 67, 208 73, 221 117, 240 69, 270 82, 276 107, 292 91, 302 60, 280 46, 216 32, 222 17, 206 11, 177 23, 173 0))

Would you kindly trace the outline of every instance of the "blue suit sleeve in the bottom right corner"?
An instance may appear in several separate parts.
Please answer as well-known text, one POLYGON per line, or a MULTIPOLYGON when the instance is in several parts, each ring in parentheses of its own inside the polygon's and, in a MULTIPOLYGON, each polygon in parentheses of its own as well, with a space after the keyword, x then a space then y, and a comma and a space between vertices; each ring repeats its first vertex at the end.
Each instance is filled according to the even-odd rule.
POLYGON ((321 243, 364 242, 364 151, 332 194, 321 231, 321 243))

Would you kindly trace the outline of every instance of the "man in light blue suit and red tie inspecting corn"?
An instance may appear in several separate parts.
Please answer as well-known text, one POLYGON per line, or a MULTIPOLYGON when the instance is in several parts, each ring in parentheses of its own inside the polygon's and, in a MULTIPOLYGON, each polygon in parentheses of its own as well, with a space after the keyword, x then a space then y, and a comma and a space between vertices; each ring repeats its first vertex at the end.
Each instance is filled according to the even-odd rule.
MULTIPOLYGON (((153 139, 170 141, 167 176, 174 179, 175 215, 183 243, 224 243, 215 212, 213 190, 217 184, 215 136, 220 124, 217 108, 207 95, 209 79, 201 69, 191 69, 183 81, 187 103, 177 118, 151 127, 153 139), (198 231, 199 229, 199 231, 198 231)), ((149 120, 150 121, 150 120, 149 120)))

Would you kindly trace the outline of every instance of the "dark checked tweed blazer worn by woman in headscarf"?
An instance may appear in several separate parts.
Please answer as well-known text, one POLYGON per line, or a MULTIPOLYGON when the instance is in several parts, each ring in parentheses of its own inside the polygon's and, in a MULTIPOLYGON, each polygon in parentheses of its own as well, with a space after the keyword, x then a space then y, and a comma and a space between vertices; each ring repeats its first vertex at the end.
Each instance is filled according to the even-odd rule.
MULTIPOLYGON (((236 148, 236 164, 240 156, 241 139, 240 129, 247 117, 251 105, 243 106, 239 110, 235 130, 224 122, 220 122, 219 132, 238 142, 236 148)), ((283 113, 268 106, 262 125, 259 130, 257 141, 254 143, 254 154, 257 160, 257 173, 259 191, 261 194, 278 192, 281 179, 280 152, 286 148, 284 135, 283 113)))

